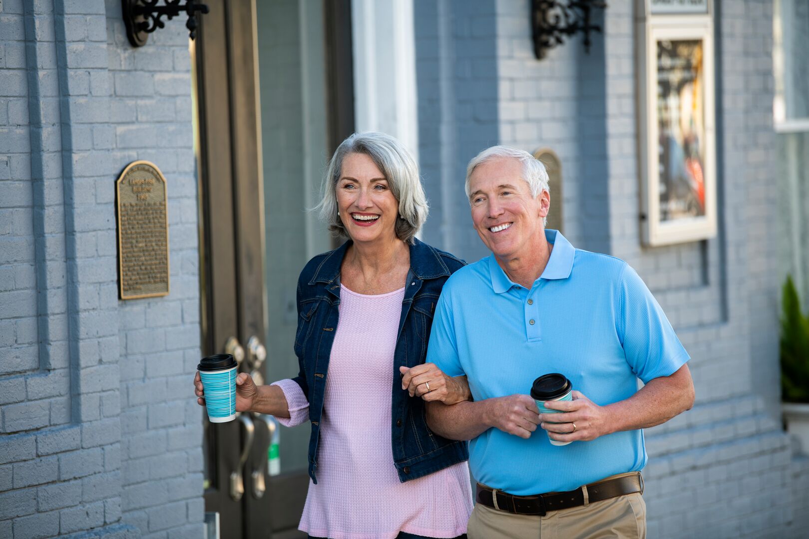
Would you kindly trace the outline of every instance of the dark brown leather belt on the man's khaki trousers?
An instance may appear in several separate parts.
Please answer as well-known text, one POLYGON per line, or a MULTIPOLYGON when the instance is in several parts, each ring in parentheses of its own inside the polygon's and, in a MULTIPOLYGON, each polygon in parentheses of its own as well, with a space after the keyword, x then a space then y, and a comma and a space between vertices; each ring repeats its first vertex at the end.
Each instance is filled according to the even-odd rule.
POLYGON ((477 483, 477 503, 483 503, 500 511, 519 515, 540 515, 546 512, 579 507, 586 503, 600 502, 640 492, 643 494, 643 478, 640 472, 613 475, 602 481, 579 486, 575 491, 548 492, 532 496, 515 496, 503 491, 495 491, 489 486, 477 483), (495 496, 497 503, 495 503, 495 496))

